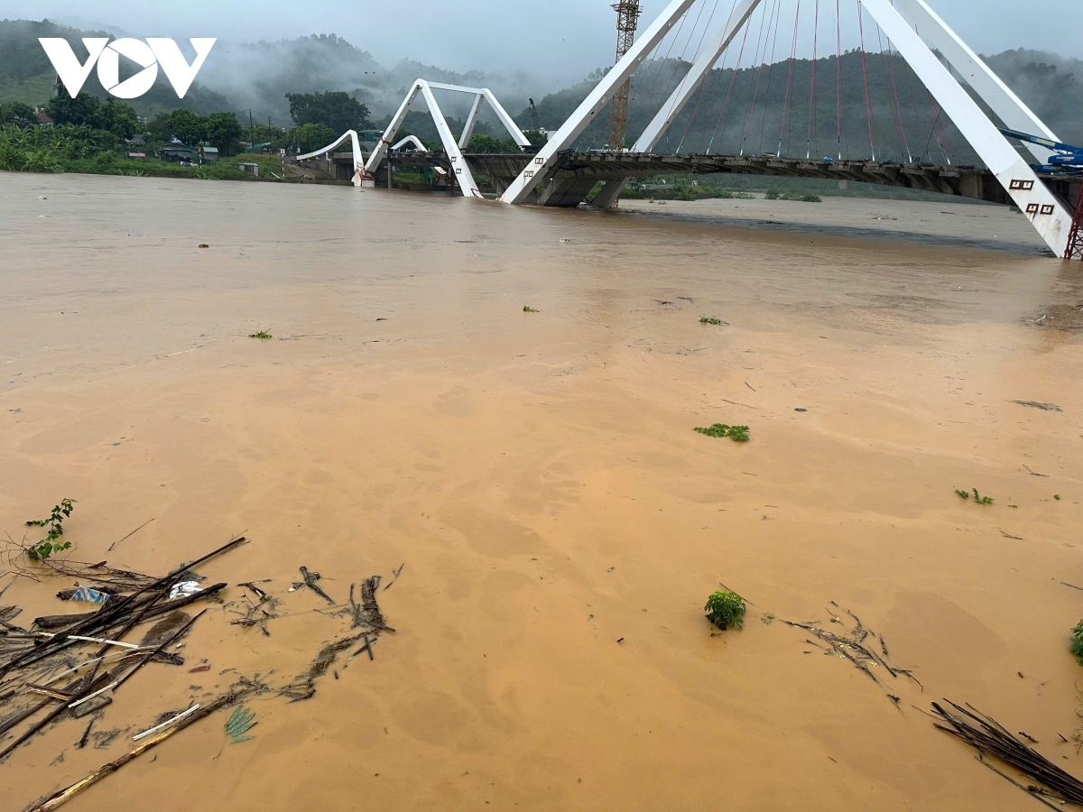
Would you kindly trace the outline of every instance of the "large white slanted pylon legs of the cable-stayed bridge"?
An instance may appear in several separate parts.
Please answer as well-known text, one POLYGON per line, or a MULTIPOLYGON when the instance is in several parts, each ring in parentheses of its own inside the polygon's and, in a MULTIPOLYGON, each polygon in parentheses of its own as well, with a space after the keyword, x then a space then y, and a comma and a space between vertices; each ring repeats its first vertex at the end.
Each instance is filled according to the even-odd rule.
MULTIPOLYGON (((535 188, 549 180, 556 171, 559 154, 572 148, 576 139, 595 120, 602 107, 612 100, 625 80, 636 71, 694 2, 695 0, 671 0, 567 121, 549 136, 549 142, 500 196, 501 201, 524 204, 531 199, 535 188)), ((709 44, 647 126, 632 152, 649 153, 654 148, 701 82, 715 67, 726 48, 748 24, 752 13, 761 2, 762 0, 736 1, 730 19, 714 36, 705 40, 709 44)), ((981 57, 967 47, 925 0, 895 0, 893 4, 891 0, 859 0, 859 3, 876 21, 898 53, 943 108, 944 114, 952 119, 989 170, 996 175, 1008 196, 1020 211, 1026 213, 1046 245, 1058 257, 1062 257, 1071 230, 1071 213, 1001 134, 952 73, 944 67, 930 49, 930 44, 941 52, 949 64, 966 79, 975 94, 1009 128, 1058 141, 1052 130, 996 77, 981 57), (903 14, 908 16, 904 17, 903 14)), ((1045 162, 1049 155, 1048 150, 1041 147, 1031 147, 1031 153, 1042 162, 1045 162)), ((619 196, 625 182, 606 182, 595 205, 601 207, 612 205, 619 196)))

